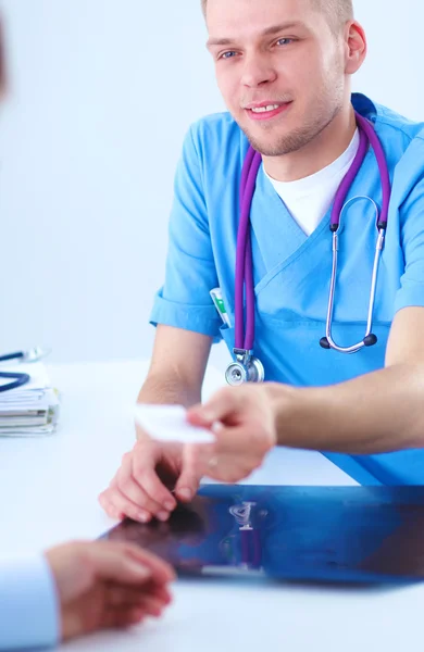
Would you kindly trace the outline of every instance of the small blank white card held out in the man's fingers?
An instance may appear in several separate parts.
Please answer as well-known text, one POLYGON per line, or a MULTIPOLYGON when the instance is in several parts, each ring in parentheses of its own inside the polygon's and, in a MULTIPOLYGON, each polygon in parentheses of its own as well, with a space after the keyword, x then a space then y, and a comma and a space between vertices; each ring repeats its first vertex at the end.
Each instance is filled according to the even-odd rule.
POLYGON ((137 424, 158 441, 177 441, 179 443, 213 443, 215 437, 211 430, 187 423, 186 409, 183 405, 151 405, 138 403, 135 406, 137 424))

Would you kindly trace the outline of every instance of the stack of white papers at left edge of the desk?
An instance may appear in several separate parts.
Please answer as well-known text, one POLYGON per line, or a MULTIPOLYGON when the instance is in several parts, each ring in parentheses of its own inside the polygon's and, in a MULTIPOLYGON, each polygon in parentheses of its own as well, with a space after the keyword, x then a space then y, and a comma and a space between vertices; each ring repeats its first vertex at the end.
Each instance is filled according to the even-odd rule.
MULTIPOLYGON (((16 389, 0 391, 0 436, 53 432, 59 416, 59 396, 51 387, 45 365, 40 362, 8 364, 1 365, 2 371, 28 374, 30 380, 16 389)), ((0 389, 8 381, 0 378, 0 389)))

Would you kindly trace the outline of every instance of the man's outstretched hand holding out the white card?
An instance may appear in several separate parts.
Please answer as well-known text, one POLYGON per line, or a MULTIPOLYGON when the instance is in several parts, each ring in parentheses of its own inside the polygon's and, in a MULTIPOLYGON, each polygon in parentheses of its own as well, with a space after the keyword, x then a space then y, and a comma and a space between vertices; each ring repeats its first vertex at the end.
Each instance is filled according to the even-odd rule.
POLYGON ((277 443, 274 403, 269 386, 227 387, 204 405, 191 408, 189 423, 213 430, 216 441, 186 444, 184 469, 222 482, 238 482, 262 465, 277 443))

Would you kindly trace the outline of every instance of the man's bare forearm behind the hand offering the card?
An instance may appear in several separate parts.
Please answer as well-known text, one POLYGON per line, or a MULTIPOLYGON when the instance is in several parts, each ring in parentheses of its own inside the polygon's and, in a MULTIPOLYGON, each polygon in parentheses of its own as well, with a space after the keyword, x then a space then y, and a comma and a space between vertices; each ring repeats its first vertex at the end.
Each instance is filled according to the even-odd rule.
POLYGON ((270 386, 278 444, 371 454, 424 447, 424 367, 394 365, 323 388, 270 386))

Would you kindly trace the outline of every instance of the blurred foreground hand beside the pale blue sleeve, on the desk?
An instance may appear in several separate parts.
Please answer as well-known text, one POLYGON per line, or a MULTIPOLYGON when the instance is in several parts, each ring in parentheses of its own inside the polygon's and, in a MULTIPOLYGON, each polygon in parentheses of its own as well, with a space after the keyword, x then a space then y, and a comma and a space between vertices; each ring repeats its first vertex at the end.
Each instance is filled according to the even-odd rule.
POLYGON ((138 546, 73 542, 45 553, 60 602, 61 639, 141 623, 171 602, 174 572, 138 546))

